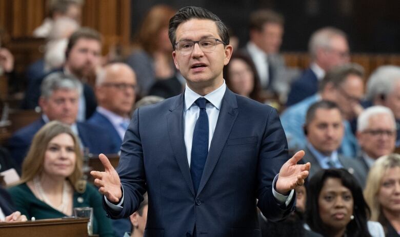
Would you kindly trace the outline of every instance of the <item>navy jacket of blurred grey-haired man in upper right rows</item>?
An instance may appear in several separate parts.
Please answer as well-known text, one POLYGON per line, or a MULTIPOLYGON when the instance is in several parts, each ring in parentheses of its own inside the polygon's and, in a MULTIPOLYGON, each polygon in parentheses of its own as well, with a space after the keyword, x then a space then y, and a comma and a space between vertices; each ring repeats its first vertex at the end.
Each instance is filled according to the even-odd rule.
POLYGON ((288 95, 286 106, 291 106, 301 102, 305 98, 315 94, 318 91, 318 79, 311 68, 305 70, 292 85, 288 95))

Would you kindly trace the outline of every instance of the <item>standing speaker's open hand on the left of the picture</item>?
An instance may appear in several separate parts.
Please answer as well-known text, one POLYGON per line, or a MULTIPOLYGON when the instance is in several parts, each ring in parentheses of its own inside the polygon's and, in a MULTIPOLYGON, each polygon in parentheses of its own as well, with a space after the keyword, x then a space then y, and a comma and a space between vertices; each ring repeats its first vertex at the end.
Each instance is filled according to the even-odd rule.
POLYGON ((106 198, 113 203, 118 203, 122 197, 121 181, 118 173, 112 167, 107 156, 99 154, 98 159, 102 162, 105 171, 91 171, 90 174, 95 178, 94 185, 98 187, 98 191, 105 195, 106 198))

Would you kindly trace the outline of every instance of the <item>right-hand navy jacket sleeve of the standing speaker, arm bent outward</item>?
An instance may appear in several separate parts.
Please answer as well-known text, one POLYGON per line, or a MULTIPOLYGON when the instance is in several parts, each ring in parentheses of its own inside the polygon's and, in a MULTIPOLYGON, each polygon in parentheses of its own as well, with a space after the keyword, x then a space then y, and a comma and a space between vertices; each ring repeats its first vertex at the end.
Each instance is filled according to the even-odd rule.
POLYGON ((267 118, 266 128, 258 157, 258 208, 270 221, 286 218, 295 207, 295 196, 289 205, 279 204, 272 193, 272 181, 282 165, 288 160, 285 132, 275 109, 267 118))

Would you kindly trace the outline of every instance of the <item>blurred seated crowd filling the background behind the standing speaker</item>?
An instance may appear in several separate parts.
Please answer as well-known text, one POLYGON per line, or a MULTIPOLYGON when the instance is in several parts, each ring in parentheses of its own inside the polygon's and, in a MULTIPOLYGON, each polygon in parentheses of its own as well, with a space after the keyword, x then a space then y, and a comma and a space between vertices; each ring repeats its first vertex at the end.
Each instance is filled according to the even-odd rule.
MULTIPOLYGON (((21 103, 41 115, 0 148, 0 171, 21 176, 0 189, 0 220, 59 218, 90 206, 95 234, 143 236, 147 199, 129 219, 108 219, 85 179, 84 155, 117 154, 133 110, 183 92, 168 38, 176 9, 152 7, 128 55, 115 60, 103 56, 102 35, 81 26, 82 1, 50 2, 33 33, 46 38, 45 52, 26 68, 21 103)), ((252 12, 249 42, 234 46, 223 72, 230 90, 279 110, 289 153, 305 150, 311 163, 288 220, 259 213, 263 236, 400 236, 400 67, 367 76, 350 62, 346 33, 327 26, 310 35, 308 69, 290 68, 279 51, 284 24, 272 10, 252 12)), ((20 80, 1 41, 0 75, 20 80)))

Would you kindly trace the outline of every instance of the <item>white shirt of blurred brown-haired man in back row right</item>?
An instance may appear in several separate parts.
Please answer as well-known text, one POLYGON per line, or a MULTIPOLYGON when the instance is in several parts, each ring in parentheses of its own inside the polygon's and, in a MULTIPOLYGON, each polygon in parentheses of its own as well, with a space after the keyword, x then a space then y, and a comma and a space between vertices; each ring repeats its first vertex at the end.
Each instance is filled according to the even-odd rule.
POLYGON ((257 69, 261 86, 266 88, 269 83, 268 55, 251 41, 247 43, 247 51, 253 60, 255 69, 257 69))

